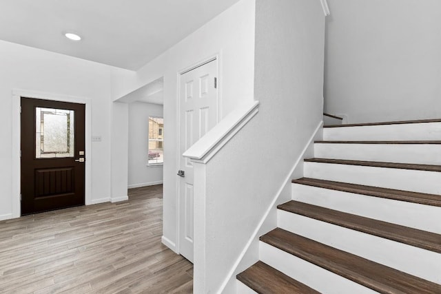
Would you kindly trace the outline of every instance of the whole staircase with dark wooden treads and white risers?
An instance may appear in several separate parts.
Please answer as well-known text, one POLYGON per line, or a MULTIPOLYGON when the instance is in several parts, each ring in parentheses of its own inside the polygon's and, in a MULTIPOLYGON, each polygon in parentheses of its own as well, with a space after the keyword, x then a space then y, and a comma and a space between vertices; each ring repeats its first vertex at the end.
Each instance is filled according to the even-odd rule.
POLYGON ((323 129, 237 293, 441 293, 441 120, 323 129))

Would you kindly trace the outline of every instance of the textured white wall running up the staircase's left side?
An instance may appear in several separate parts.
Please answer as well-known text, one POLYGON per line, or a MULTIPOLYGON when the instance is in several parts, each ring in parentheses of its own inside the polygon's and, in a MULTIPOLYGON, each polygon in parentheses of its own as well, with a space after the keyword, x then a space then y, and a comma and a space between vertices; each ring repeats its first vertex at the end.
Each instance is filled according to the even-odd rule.
POLYGON ((195 182, 196 248, 201 245, 197 235, 205 235, 204 250, 195 250, 195 260, 201 261, 194 264, 196 293, 218 293, 229 278, 322 120, 324 43, 319 0, 256 0, 259 112, 207 162, 203 202, 195 182))

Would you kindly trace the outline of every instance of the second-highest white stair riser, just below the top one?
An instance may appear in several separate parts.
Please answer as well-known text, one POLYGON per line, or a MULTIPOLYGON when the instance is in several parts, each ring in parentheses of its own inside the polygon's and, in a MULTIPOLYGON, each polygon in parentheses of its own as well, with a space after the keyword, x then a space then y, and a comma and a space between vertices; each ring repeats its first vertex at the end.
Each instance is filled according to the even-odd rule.
POLYGON ((441 145, 316 143, 314 157, 441 165, 441 145))

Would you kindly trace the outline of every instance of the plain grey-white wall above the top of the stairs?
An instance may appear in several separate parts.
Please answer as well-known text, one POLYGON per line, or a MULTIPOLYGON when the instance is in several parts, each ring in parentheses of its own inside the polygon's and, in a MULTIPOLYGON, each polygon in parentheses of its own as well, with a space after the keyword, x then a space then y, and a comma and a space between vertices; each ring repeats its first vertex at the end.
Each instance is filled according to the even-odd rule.
POLYGON ((441 118, 441 1, 328 0, 325 111, 441 118))

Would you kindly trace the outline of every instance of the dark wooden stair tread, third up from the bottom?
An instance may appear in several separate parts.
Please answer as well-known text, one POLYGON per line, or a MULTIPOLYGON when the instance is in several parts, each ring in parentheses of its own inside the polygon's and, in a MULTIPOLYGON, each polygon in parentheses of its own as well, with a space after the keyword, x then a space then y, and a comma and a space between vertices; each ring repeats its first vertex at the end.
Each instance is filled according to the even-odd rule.
POLYGON ((441 235, 291 200, 277 207, 307 218, 441 253, 441 235))

